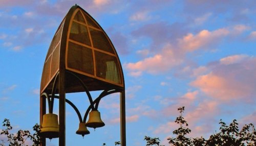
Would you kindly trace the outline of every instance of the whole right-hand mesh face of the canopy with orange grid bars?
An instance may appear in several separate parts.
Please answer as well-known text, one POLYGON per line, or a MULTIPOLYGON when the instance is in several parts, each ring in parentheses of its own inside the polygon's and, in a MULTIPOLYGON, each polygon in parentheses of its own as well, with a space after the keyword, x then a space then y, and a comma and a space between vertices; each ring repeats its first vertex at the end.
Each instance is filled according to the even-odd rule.
POLYGON ((120 64, 110 39, 81 9, 74 12, 67 39, 66 68, 104 82, 122 86, 120 64))

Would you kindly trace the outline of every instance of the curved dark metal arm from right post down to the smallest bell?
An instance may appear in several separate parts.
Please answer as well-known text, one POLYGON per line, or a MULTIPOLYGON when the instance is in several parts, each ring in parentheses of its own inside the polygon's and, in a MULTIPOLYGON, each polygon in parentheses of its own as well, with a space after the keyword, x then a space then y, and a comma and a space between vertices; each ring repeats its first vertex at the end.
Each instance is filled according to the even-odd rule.
POLYGON ((92 109, 91 106, 88 107, 88 109, 86 110, 86 113, 84 114, 83 116, 83 122, 86 123, 86 119, 87 119, 87 116, 90 112, 90 110, 98 110, 98 105, 99 105, 99 102, 102 98, 104 98, 104 96, 106 95, 109 95, 109 94, 112 94, 112 93, 117 93, 117 92, 120 92, 119 90, 116 90, 116 89, 111 89, 111 90, 104 90, 101 92, 101 94, 98 96, 98 98, 96 98, 94 101, 93 101, 93 105, 96 104, 95 106, 95 109, 92 109))

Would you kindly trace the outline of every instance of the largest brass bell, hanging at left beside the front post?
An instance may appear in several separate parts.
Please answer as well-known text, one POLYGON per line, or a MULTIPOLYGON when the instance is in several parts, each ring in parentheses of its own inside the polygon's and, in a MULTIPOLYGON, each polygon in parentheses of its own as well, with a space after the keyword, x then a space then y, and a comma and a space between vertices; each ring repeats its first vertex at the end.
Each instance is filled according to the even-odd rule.
POLYGON ((49 139, 59 137, 58 115, 49 113, 42 116, 42 127, 40 128, 40 136, 49 139))

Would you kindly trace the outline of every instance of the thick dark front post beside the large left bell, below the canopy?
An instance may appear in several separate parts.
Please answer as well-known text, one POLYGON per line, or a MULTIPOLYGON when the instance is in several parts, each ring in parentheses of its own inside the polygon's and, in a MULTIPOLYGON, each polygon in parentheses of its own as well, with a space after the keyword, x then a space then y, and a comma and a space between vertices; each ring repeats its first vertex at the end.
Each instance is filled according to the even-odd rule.
POLYGON ((59 146, 66 145, 65 70, 59 71, 59 146))

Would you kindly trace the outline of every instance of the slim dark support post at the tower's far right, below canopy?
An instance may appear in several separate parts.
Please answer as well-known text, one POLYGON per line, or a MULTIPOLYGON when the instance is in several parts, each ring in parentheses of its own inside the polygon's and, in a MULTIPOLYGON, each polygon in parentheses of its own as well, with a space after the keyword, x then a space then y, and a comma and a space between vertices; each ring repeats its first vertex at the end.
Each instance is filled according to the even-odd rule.
POLYGON ((121 132, 121 145, 126 146, 125 90, 120 92, 120 132, 121 132))

